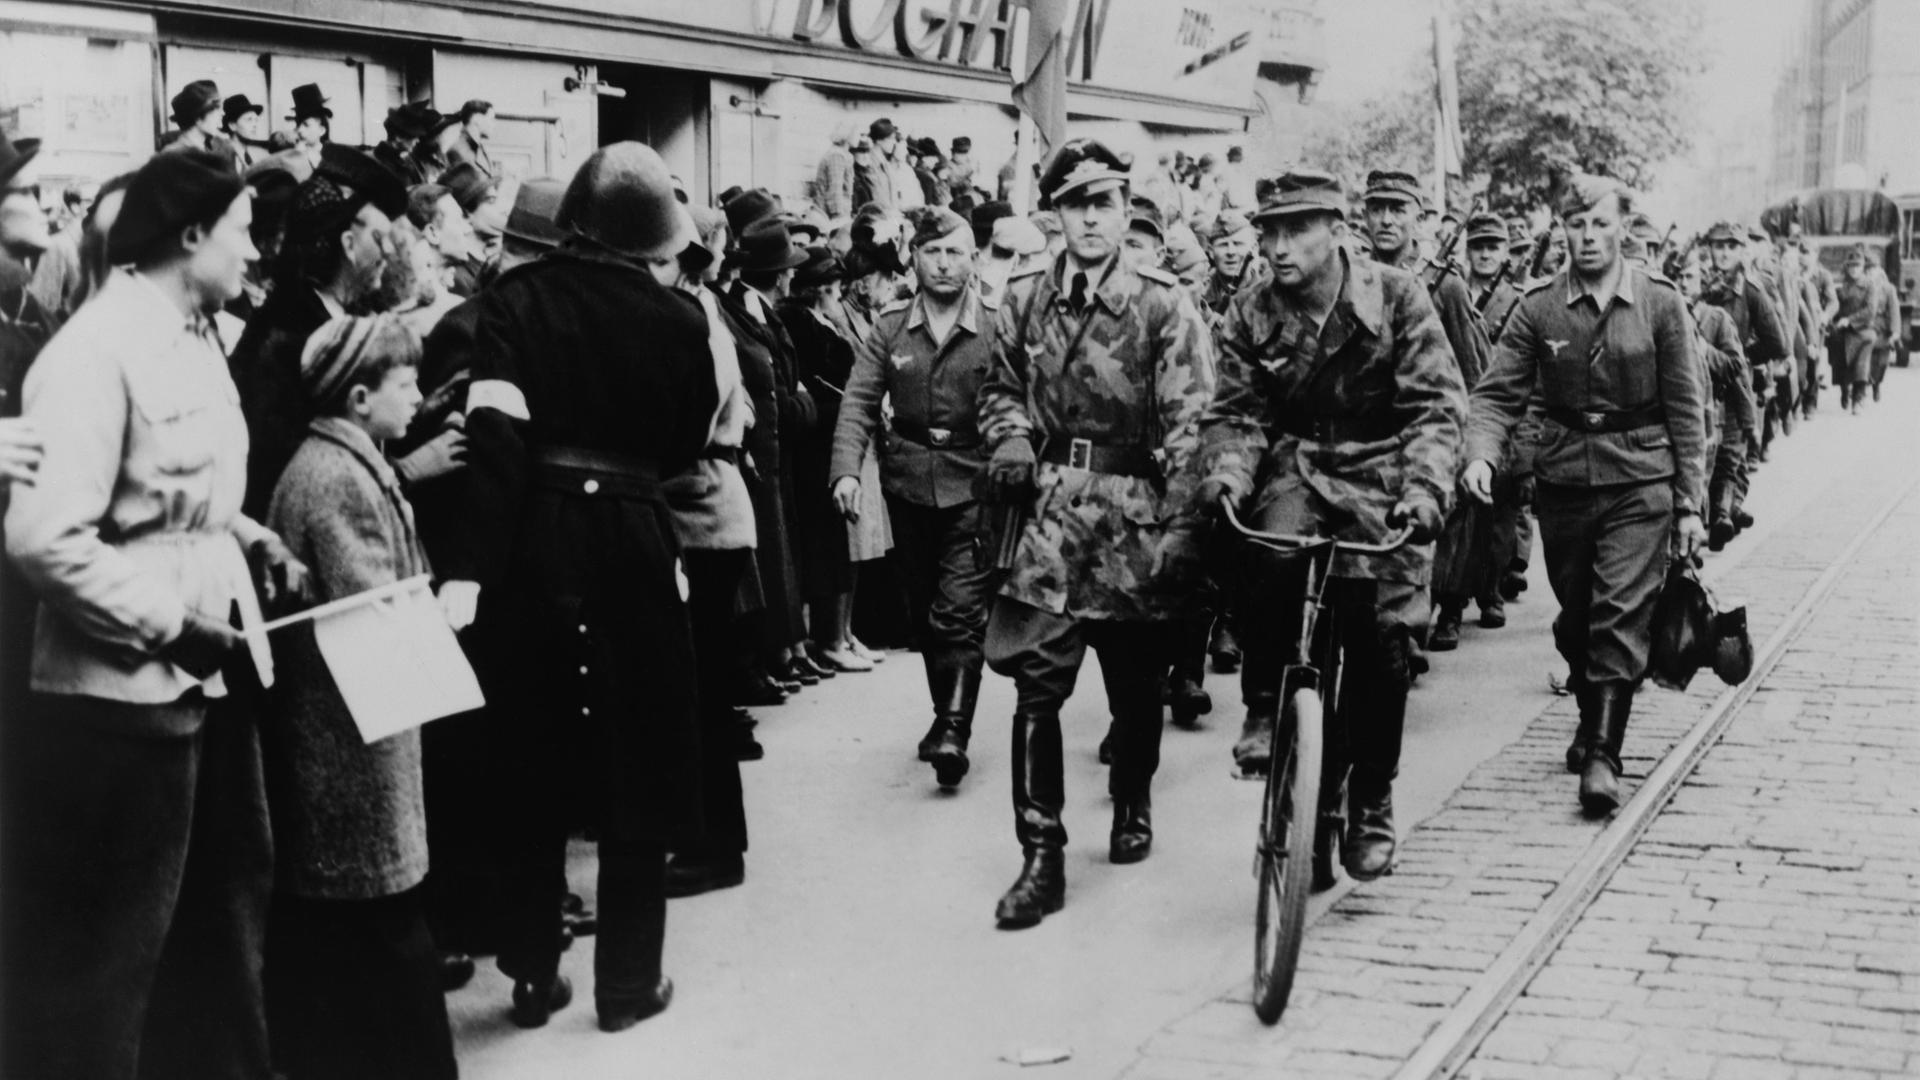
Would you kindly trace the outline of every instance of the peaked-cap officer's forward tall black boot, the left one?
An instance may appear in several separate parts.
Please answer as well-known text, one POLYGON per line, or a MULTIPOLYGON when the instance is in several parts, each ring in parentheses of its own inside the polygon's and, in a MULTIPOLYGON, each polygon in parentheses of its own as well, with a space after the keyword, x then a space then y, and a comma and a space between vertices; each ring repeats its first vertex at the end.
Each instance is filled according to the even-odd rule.
POLYGON ((1068 901, 1068 830, 1060 822, 1060 807, 1066 805, 1060 713, 1016 709, 1014 751, 1008 759, 1014 782, 1014 834, 1020 836, 1020 849, 1027 861, 1020 869, 1020 878, 1000 897, 995 919, 1002 930, 1021 930, 1039 924, 1068 901))

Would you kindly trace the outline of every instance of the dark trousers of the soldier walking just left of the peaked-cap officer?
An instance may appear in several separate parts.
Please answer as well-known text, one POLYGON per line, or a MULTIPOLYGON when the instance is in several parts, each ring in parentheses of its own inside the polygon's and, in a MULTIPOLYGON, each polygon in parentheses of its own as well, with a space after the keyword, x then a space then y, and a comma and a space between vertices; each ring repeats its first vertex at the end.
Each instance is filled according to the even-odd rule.
POLYGON ((929 676, 945 657, 964 671, 981 669, 998 577, 981 550, 985 517, 987 507, 977 502, 931 507, 887 496, 893 557, 929 676))

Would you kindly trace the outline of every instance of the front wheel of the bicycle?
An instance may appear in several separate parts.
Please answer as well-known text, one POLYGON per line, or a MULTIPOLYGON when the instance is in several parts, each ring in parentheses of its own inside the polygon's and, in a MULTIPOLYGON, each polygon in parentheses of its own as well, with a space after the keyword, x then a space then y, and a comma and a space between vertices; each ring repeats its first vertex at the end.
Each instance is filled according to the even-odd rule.
POLYGON ((1273 1024, 1286 1011, 1313 890, 1313 826, 1319 821, 1321 700, 1300 688, 1275 732, 1275 761, 1261 807, 1254 911, 1254 1015, 1273 1024))

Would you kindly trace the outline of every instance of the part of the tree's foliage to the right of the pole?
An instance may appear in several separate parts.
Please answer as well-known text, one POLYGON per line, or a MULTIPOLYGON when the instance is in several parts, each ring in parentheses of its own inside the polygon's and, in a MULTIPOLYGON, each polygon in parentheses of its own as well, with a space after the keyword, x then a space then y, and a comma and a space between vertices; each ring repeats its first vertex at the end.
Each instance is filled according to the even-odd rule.
POLYGON ((1463 0, 1459 19, 1467 171, 1496 204, 1544 200, 1572 171, 1645 188, 1688 150, 1697 0, 1463 0))

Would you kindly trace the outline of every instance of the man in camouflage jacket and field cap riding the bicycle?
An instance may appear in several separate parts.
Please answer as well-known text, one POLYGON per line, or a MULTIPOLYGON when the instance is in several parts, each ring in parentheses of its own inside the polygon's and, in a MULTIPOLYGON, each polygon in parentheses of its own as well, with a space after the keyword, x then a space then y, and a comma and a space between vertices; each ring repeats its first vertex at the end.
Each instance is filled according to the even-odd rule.
MULTIPOLYGON (((1331 717, 1329 807, 1348 765, 1352 788, 1342 861, 1359 880, 1394 861, 1392 782, 1419 607, 1432 548, 1453 492, 1467 396, 1440 317, 1411 273, 1354 259, 1346 198, 1325 173, 1281 177, 1256 219, 1273 277, 1235 298, 1221 334, 1221 375, 1202 434, 1202 505, 1254 496, 1254 528, 1332 532, 1377 542, 1402 525, 1413 542, 1386 555, 1334 563, 1329 600, 1340 605, 1346 676, 1331 717)), ((1248 657, 1279 657, 1298 634, 1292 578, 1267 565, 1252 575, 1256 603, 1240 607, 1248 657)), ((1248 663, 1242 769, 1271 759, 1281 705, 1277 663, 1248 663)), ((1332 836, 1329 828, 1323 836, 1332 836)))

